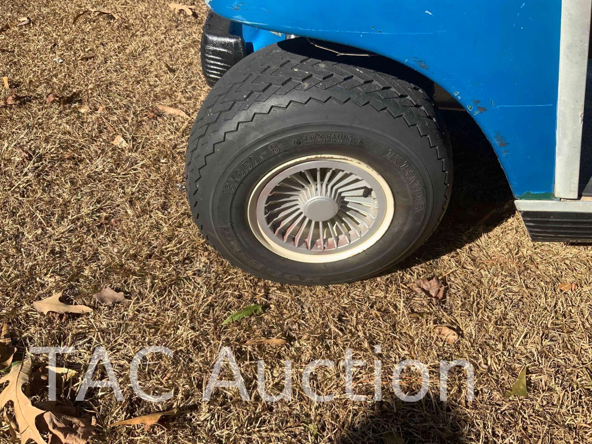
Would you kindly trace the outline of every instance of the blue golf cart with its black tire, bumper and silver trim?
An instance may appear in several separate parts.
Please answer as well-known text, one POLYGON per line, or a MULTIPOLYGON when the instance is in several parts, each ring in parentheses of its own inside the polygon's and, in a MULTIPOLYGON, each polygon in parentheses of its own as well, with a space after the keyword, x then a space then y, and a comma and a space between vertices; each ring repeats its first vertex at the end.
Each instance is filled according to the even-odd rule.
POLYGON ((235 265, 334 284, 422 245, 452 186, 437 89, 490 141, 532 240, 592 241, 590 0, 206 1, 186 185, 235 265))

